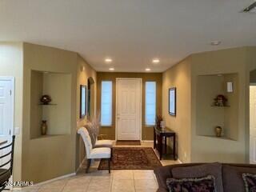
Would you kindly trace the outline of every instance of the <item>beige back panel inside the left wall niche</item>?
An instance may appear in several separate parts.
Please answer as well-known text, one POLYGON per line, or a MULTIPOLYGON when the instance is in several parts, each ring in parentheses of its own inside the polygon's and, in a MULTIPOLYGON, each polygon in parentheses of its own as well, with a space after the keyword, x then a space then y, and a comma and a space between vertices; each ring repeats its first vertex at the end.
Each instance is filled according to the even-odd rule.
POLYGON ((41 106, 42 120, 46 120, 48 125, 47 134, 70 134, 71 89, 70 74, 43 74, 42 93, 50 95, 51 103, 56 104, 41 106))

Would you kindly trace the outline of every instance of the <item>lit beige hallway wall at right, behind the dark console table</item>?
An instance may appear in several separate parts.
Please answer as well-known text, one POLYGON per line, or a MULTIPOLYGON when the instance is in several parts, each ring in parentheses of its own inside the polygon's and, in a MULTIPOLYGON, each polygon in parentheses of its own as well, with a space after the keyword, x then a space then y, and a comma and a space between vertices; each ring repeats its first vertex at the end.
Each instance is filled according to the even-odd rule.
POLYGON ((190 162, 191 58, 186 58, 162 74, 162 115, 166 126, 177 134, 178 158, 190 162), (169 114, 169 89, 177 88, 176 117, 169 114))

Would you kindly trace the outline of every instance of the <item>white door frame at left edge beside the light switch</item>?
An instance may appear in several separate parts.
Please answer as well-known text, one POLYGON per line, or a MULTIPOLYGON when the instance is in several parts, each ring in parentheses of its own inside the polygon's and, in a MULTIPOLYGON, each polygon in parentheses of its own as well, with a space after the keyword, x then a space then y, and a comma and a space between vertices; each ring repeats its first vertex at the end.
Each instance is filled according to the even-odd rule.
POLYGON ((15 78, 0 76, 0 81, 10 81, 11 82, 11 127, 10 127, 10 136, 14 134, 14 99, 15 99, 15 78))

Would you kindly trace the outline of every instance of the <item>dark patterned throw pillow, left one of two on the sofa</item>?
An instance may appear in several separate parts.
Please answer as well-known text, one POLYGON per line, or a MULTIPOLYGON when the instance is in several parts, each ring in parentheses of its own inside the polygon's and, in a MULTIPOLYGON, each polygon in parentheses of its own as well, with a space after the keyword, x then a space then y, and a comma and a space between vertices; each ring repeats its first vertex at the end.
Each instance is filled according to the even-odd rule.
POLYGON ((168 186, 170 192, 216 192, 215 178, 212 175, 208 175, 205 178, 167 178, 166 185, 168 186))

